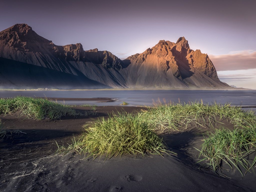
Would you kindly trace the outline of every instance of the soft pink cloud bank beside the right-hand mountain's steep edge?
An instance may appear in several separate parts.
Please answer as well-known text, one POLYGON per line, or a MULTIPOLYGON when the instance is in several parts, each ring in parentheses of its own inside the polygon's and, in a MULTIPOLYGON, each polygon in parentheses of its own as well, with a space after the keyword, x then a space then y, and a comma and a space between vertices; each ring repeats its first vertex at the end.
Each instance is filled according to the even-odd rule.
POLYGON ((226 55, 209 55, 217 71, 256 68, 256 51, 233 51, 226 55))

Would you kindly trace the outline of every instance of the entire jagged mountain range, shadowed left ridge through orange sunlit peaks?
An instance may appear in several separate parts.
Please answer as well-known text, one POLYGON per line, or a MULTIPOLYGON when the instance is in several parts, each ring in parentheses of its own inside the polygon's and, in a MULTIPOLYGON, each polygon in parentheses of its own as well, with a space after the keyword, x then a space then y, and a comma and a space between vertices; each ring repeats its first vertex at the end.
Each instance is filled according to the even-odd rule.
POLYGON ((227 89, 208 55, 161 40, 142 54, 120 60, 109 51, 58 46, 27 24, 0 32, 0 88, 207 88, 227 89))

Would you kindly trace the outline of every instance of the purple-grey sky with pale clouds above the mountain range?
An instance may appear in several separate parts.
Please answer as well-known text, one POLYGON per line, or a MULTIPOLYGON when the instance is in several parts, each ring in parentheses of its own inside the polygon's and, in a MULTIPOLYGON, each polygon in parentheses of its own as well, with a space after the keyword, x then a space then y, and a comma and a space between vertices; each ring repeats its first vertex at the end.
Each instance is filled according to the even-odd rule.
POLYGON ((159 40, 188 40, 209 55, 221 81, 256 89, 255 0, 1 2, 0 31, 26 23, 56 45, 81 43, 120 59, 159 40))

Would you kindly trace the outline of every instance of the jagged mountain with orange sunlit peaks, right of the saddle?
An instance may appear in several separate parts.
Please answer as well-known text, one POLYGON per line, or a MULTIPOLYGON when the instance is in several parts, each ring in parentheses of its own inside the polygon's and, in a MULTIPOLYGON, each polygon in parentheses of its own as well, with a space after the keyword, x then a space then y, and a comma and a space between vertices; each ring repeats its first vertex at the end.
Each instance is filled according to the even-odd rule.
POLYGON ((180 37, 176 43, 161 40, 142 54, 128 57, 124 69, 127 87, 133 88, 222 88, 215 67, 206 54, 189 48, 180 37))

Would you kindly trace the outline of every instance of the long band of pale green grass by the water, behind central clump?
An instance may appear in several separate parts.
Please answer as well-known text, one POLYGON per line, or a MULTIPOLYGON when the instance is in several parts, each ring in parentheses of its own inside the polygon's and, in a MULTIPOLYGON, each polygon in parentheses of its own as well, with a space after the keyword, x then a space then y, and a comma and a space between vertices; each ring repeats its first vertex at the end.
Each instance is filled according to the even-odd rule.
POLYGON ((246 126, 256 120, 252 112, 244 112, 241 107, 230 106, 230 104, 208 105, 202 102, 160 105, 143 111, 142 116, 161 131, 165 129, 178 131, 180 127, 186 128, 189 123, 205 117, 211 120, 216 120, 216 117, 227 118, 235 126, 246 126))

